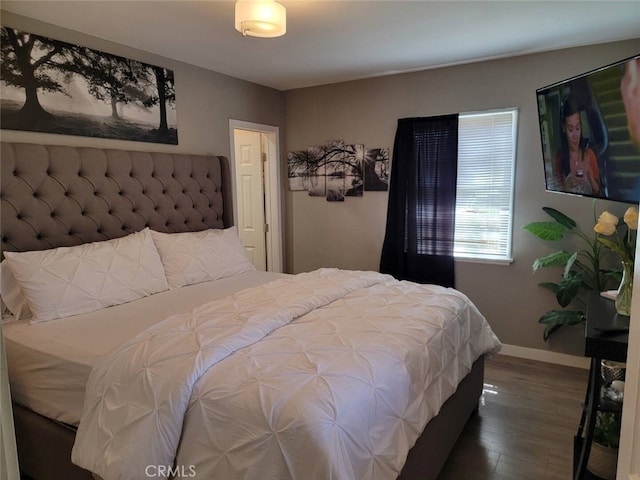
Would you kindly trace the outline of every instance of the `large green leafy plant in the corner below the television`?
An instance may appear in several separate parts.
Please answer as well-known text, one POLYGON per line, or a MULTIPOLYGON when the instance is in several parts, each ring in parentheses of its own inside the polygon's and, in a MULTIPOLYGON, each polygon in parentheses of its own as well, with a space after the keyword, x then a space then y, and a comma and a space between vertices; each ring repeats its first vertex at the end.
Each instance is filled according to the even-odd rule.
MULTIPOLYGON (((620 281, 620 274, 615 270, 601 268, 603 245, 598 241, 597 234, 586 235, 576 222, 564 213, 551 208, 542 210, 552 218, 552 221, 532 222, 522 228, 545 241, 559 241, 566 237, 577 238, 582 246, 576 251, 559 250, 544 257, 537 258, 532 265, 533 271, 546 267, 562 267, 562 277, 558 283, 544 282, 541 287, 551 291, 560 309, 544 313, 538 320, 545 325, 544 339, 564 325, 576 325, 584 321, 585 294, 589 290, 603 291, 610 279, 620 281)), ((593 202, 595 223, 595 201, 593 202)))

